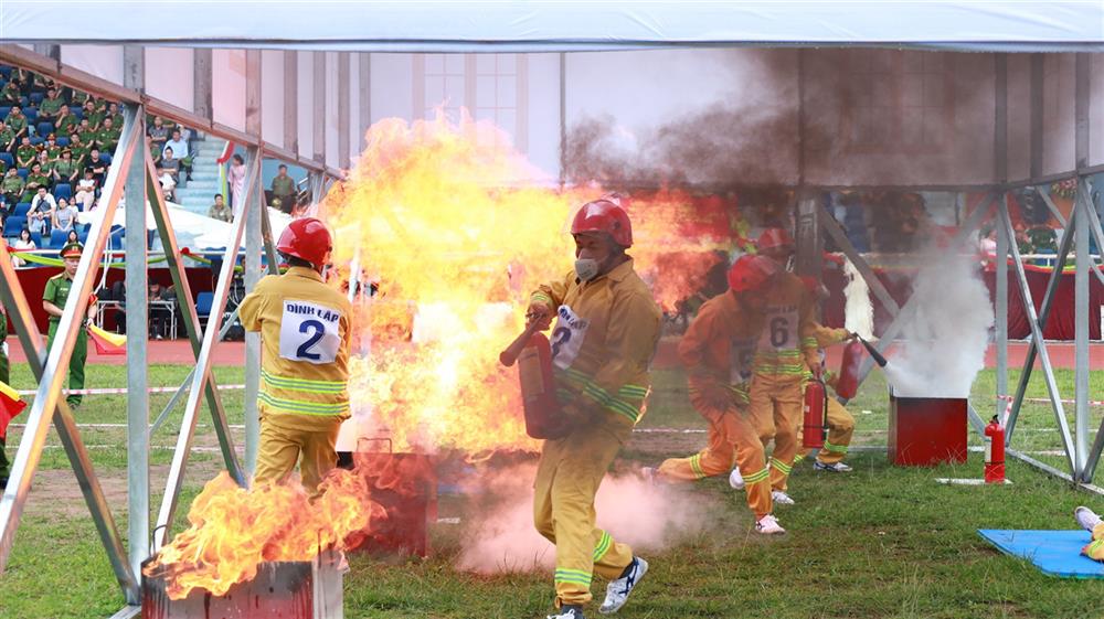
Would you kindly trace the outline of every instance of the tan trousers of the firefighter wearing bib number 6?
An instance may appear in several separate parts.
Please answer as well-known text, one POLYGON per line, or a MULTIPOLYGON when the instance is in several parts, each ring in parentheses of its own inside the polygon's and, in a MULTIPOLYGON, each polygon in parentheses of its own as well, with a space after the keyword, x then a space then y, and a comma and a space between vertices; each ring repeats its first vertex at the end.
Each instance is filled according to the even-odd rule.
MULTIPOLYGON (((751 418, 764 447, 774 439, 771 455, 771 489, 786 491, 786 480, 797 455, 797 425, 802 421, 804 392, 802 377, 758 374, 752 377, 751 418)), ((743 471, 743 468, 740 469, 743 471)), ((745 478, 746 479, 746 478, 745 478)))

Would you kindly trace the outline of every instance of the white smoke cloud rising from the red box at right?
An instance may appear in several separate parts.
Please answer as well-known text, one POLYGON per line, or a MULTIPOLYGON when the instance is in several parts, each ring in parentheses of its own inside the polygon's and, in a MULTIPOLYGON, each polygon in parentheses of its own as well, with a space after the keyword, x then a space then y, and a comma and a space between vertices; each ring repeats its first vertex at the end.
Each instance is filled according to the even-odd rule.
POLYGON ((970 256, 946 247, 926 255, 913 282, 916 311, 904 327, 903 351, 885 375, 899 396, 968 397, 994 323, 989 291, 970 256))

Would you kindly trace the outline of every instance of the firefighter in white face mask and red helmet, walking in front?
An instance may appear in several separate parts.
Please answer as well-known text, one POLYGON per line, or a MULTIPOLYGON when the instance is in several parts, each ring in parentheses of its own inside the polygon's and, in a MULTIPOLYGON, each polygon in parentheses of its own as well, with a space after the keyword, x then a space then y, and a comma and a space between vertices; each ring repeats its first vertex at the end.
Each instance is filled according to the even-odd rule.
POLYGON ((544 441, 534 483, 534 524, 556 547, 554 619, 583 619, 595 573, 611 580, 599 612, 616 612, 648 569, 627 544, 595 527, 594 497, 644 412, 661 319, 625 254, 633 231, 618 204, 584 204, 571 233, 575 270, 541 286, 529 306, 544 325, 556 317, 556 392, 573 420, 570 434, 544 441))

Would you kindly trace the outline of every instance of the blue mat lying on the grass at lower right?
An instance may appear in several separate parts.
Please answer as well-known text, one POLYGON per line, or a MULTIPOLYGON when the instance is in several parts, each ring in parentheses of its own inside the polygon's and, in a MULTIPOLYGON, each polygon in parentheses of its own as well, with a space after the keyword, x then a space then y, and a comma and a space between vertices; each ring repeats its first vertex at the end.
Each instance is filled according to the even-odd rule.
POLYGON ((1015 531, 978 529, 1001 552, 1026 558, 1040 572, 1059 578, 1104 578, 1104 563, 1081 554, 1092 535, 1081 531, 1015 531))

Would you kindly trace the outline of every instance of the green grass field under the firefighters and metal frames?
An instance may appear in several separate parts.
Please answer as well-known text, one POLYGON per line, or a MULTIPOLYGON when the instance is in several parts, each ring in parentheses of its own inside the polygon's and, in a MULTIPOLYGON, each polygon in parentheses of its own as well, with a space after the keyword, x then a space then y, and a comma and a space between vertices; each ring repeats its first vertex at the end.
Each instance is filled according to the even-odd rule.
MULTIPOLYGON (((151 385, 179 384, 185 366, 153 366, 151 385)), ((33 386, 25 366, 13 369, 17 388, 33 386)), ((242 381, 241 367, 217 367, 225 384, 242 381)), ((1015 385, 1016 373, 1010 376, 1015 385)), ((1072 372, 1058 374, 1072 393, 1072 372)), ((89 386, 121 386, 124 367, 89 366, 89 386)), ((690 408, 680 372, 657 372, 656 388, 643 428, 703 428, 690 408)), ((973 402, 984 416, 996 407, 995 375, 983 372, 973 402)), ((1104 394, 1104 371, 1092 374, 1090 393, 1104 394)), ((1029 397, 1045 397, 1032 378, 1029 397)), ((225 392, 232 423, 241 423, 241 392, 225 392)), ((151 397, 151 417, 168 401, 151 397)), ((856 445, 884 445, 885 385, 877 372, 848 407, 856 416, 856 445)), ((1093 427, 1104 410, 1094 409, 1093 427)), ((205 415, 205 413, 204 413, 205 415)), ((163 483, 180 412, 152 437, 155 485, 163 483)), ((19 420, 23 420, 20 418, 19 420)), ((82 424, 125 424, 125 399, 87 397, 77 413, 82 424)), ((181 516, 200 487, 219 469, 213 433, 201 417, 181 516)), ((1049 405, 1026 406, 1015 447, 1061 466, 1064 457, 1049 405)), ((241 430, 235 430, 241 439, 241 430)), ((21 429, 9 433, 14 455, 21 429)), ((97 473, 126 534, 125 428, 83 431, 97 473)), ((622 453, 620 467, 654 465, 698 448, 704 435, 640 434, 622 453)), ((976 437, 972 441, 979 444, 976 437)), ((106 556, 87 515, 68 462, 51 431, 42 470, 15 537, 8 572, 0 576, 0 618, 53 619, 109 617, 123 606, 106 556)), ((688 503, 672 510, 708 509, 707 525, 680 536, 662 551, 646 554, 651 570, 625 618, 808 617, 989 618, 1104 617, 1104 581, 1053 579, 1030 565, 1006 557, 981 542, 978 527, 1073 529, 1078 504, 1104 511, 1104 498, 1076 490, 1034 469, 1010 461, 1011 487, 940 485, 935 477, 979 477, 980 455, 963 467, 895 468, 884 453, 861 451, 849 461, 848 476, 815 474, 808 462, 795 469, 790 489, 798 505, 778 508, 789 534, 771 540, 751 532, 752 519, 742 495, 724 480, 707 480, 687 491, 688 503)), ((160 497, 152 498, 159 504, 160 497)), ((461 505, 443 502, 446 510, 461 505)), ((616 532, 614 532, 616 534, 616 532)), ((477 576, 454 567, 465 537, 463 526, 437 525, 431 558, 380 561, 350 557, 346 577, 349 618, 531 618, 550 610, 551 574, 477 576)), ((601 595, 604 584, 595 583, 601 595)), ((597 616, 596 610, 594 616, 597 616)))

